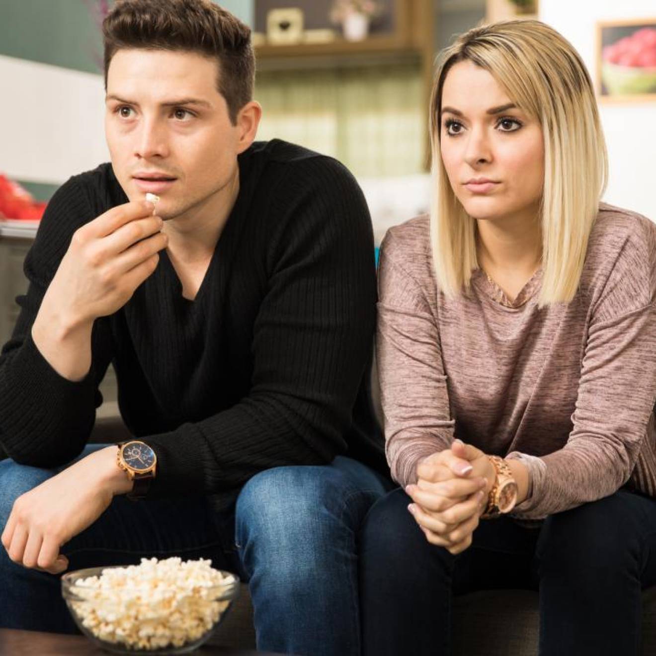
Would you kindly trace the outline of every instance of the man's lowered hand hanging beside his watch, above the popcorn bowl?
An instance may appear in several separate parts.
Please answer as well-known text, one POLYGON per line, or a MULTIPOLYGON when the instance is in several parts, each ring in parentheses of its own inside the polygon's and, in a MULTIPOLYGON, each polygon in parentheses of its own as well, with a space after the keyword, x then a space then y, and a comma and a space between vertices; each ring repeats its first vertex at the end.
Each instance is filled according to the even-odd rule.
POLYGON ((117 466, 116 453, 115 446, 95 451, 14 501, 1 538, 12 561, 51 574, 66 570, 62 545, 133 485, 117 466))

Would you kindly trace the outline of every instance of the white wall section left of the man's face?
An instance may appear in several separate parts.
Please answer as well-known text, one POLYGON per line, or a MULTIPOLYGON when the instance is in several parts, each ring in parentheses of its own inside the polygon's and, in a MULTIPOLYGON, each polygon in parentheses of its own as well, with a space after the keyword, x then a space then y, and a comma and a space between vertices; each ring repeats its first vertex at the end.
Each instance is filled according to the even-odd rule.
POLYGON ((0 171, 60 184, 109 161, 102 76, 0 55, 0 171))

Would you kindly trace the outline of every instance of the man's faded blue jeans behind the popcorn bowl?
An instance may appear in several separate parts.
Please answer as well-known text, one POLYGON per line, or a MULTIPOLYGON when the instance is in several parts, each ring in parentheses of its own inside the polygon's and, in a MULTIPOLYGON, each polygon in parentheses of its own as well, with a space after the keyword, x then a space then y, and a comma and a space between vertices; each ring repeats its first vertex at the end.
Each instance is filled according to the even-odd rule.
MULTIPOLYGON (((79 458, 106 446, 89 445, 79 458)), ((0 462, 0 533, 14 501, 62 469, 0 462)), ((261 472, 223 514, 205 497, 133 502, 119 496, 62 553, 69 571, 138 564, 142 557, 211 558, 217 569, 249 581, 258 649, 358 654, 356 539, 386 485, 365 465, 337 457, 327 466, 261 472)), ((0 626, 77 632, 59 577, 15 564, 1 544, 0 626)))

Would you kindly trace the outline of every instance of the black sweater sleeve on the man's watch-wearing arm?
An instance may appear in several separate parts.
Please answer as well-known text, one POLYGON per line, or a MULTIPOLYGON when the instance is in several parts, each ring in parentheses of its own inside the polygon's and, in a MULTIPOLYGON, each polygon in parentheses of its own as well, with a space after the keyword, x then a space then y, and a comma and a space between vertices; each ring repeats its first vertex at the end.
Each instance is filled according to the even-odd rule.
POLYGON ((158 463, 149 497, 232 491, 266 468, 325 464, 347 449, 375 323, 371 220, 336 161, 314 157, 290 169, 270 207, 277 228, 249 394, 143 438, 158 463))

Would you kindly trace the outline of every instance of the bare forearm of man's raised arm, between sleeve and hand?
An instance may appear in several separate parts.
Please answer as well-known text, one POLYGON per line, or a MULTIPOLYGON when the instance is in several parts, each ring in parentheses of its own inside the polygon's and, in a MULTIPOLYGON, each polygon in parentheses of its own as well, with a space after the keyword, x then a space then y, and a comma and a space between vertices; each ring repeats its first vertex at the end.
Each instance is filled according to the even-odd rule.
POLYGON ((41 355, 62 378, 77 382, 91 368, 93 321, 75 321, 64 308, 43 299, 32 326, 32 339, 41 355))

